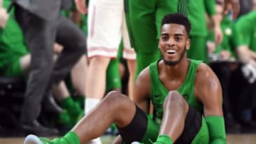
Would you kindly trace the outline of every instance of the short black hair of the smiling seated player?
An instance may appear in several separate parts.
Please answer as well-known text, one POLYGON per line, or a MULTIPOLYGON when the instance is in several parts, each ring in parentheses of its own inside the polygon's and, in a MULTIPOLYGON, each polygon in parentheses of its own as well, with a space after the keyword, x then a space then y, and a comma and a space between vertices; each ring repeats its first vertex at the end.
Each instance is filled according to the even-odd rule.
POLYGON ((176 23, 185 26, 188 35, 191 31, 191 23, 189 22, 188 17, 184 16, 181 13, 167 14, 161 21, 161 26, 163 26, 166 23, 176 23))

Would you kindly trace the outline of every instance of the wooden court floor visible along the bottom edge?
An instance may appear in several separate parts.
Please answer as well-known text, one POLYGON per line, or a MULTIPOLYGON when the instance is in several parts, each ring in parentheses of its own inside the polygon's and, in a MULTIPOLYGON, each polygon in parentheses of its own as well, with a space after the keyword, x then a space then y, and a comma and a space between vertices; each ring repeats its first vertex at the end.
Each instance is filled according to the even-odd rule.
MULTIPOLYGON (((110 144, 113 136, 102 136, 103 144, 110 144)), ((256 134, 227 135, 228 144, 256 144, 256 134)), ((23 144, 24 138, 0 138, 0 144, 23 144)))

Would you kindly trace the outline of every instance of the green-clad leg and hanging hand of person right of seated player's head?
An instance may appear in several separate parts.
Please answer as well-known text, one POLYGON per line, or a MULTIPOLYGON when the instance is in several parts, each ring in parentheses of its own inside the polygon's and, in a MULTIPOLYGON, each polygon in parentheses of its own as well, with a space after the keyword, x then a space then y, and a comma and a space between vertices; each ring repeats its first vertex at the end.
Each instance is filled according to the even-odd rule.
POLYGON ((205 13, 208 13, 214 23, 215 43, 219 45, 223 39, 220 29, 220 20, 216 16, 215 0, 190 0, 188 18, 191 21, 191 48, 188 57, 195 60, 203 60, 208 63, 206 48, 207 24, 205 13))

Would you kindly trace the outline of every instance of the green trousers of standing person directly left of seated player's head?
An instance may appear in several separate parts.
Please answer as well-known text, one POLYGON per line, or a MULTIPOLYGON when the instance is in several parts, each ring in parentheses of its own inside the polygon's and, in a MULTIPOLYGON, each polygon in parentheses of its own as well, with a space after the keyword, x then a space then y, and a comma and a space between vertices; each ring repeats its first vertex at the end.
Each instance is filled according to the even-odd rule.
POLYGON ((167 13, 177 12, 177 6, 177 0, 129 1, 130 38, 137 54, 136 77, 151 62, 160 58, 158 40, 161 18, 167 13))

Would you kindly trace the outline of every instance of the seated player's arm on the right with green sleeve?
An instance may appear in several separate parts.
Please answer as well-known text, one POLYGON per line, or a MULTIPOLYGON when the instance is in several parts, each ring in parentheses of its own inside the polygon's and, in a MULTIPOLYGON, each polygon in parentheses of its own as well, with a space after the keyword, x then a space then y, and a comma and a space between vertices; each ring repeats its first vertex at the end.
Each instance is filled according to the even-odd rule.
POLYGON ((198 101, 203 103, 210 144, 226 143, 222 89, 218 77, 204 63, 198 67, 196 73, 195 94, 198 101))

